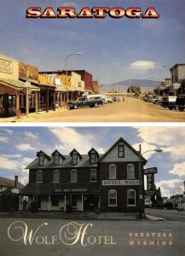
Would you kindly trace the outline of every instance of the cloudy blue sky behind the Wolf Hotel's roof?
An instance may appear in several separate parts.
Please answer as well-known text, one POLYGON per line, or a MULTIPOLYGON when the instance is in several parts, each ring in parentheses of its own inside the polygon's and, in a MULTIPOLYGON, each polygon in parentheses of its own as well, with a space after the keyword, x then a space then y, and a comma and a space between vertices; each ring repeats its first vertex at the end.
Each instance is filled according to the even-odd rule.
POLYGON ((158 167, 156 185, 163 196, 176 195, 185 179, 185 127, 1 127, 0 128, 0 176, 14 179, 20 175, 21 182, 28 182, 25 166, 43 150, 52 154, 57 148, 61 154, 69 154, 76 148, 80 154, 87 154, 90 148, 104 153, 119 137, 136 150, 142 143, 142 153, 162 148, 158 154, 150 151, 143 156, 146 167, 158 167), (21 172, 20 172, 21 170, 21 172))

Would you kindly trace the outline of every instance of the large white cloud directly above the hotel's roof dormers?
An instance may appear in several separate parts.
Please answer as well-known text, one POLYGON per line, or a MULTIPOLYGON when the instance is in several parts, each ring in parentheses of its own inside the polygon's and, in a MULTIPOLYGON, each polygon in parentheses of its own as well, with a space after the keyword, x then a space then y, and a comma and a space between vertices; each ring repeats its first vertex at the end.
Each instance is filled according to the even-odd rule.
MULTIPOLYGON (((58 149, 65 151, 65 154, 69 154, 73 148, 76 148, 80 154, 87 154, 90 148, 95 148, 95 137, 92 134, 81 135, 73 128, 67 127, 50 127, 55 137, 60 141, 58 149)), ((103 153, 103 148, 95 148, 99 153, 103 153)), ((62 153, 62 152, 61 152, 62 153)))

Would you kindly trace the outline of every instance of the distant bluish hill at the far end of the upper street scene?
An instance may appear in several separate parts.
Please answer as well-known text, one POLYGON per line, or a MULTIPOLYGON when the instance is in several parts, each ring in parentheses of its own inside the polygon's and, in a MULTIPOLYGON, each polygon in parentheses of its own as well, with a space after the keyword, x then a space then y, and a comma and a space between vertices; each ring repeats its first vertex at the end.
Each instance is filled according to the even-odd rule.
MULTIPOLYGON (((158 81, 154 80, 147 80, 147 79, 130 79, 123 80, 118 83, 113 84, 100 84, 100 91, 107 92, 108 90, 117 90, 119 92, 126 92, 130 85, 139 85, 142 91, 149 91, 153 90, 154 88, 158 87, 158 81)), ((160 84, 160 81, 159 81, 160 84)))

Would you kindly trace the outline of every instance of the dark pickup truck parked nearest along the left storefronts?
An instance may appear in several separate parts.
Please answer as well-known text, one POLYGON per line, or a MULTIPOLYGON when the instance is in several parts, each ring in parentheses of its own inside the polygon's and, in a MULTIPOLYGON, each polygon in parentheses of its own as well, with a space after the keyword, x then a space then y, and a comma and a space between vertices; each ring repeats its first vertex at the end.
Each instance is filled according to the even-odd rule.
POLYGON ((95 99, 93 97, 88 98, 87 96, 78 97, 78 99, 74 102, 68 102, 69 109, 77 109, 77 108, 97 108, 101 105, 105 104, 103 99, 95 99))

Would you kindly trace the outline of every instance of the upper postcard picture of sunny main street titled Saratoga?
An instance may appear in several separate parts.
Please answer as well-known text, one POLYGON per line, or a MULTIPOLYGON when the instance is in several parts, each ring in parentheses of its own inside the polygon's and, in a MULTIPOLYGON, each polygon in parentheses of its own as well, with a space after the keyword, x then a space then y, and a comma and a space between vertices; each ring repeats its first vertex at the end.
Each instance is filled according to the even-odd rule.
POLYGON ((1 0, 0 123, 184 122, 184 0, 1 0))

